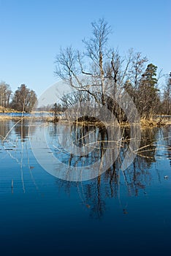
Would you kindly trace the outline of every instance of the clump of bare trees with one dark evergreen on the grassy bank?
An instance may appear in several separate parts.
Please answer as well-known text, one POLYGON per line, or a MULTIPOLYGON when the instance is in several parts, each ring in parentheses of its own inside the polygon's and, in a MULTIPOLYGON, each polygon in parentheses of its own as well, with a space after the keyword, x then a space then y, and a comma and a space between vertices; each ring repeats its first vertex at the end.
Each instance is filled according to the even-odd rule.
MULTIPOLYGON (((86 97, 94 101, 94 105, 105 105, 119 121, 126 121, 126 118, 117 103, 119 99, 115 98, 118 89, 121 94, 123 89, 128 91, 140 116, 156 112, 159 106, 156 66, 148 64, 145 70, 148 59, 141 53, 131 49, 122 57, 118 50, 109 48, 111 29, 104 19, 91 23, 91 26, 92 36, 83 39, 83 53, 72 47, 60 50, 56 56, 56 75, 80 91, 77 94, 79 102, 86 97)), ((70 98, 65 99, 69 103, 70 98)))

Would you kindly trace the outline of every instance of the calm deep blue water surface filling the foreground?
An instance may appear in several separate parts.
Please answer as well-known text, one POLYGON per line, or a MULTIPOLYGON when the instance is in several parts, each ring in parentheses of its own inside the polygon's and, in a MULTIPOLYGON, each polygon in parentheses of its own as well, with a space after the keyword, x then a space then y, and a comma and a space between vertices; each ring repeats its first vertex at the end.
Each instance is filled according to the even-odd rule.
MULTIPOLYGON (((28 121, 9 132, 14 124, 0 124, 1 255, 170 255, 171 127, 143 129, 142 149, 125 171, 120 167, 129 140, 102 176, 70 182, 39 165, 28 121)), ((71 158, 58 146, 56 125, 47 124, 45 132, 49 154, 68 165, 88 165, 102 153, 101 144, 87 157, 71 158)))

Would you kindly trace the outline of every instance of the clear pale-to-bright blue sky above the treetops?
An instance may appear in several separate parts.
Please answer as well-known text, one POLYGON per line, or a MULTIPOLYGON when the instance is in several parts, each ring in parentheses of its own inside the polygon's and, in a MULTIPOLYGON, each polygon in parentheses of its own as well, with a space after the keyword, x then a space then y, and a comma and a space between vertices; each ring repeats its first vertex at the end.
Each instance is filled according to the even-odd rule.
POLYGON ((57 81, 60 47, 82 48, 91 22, 104 18, 113 29, 110 45, 140 51, 171 72, 170 0, 0 0, 0 81, 12 91, 26 83, 37 94, 57 81))

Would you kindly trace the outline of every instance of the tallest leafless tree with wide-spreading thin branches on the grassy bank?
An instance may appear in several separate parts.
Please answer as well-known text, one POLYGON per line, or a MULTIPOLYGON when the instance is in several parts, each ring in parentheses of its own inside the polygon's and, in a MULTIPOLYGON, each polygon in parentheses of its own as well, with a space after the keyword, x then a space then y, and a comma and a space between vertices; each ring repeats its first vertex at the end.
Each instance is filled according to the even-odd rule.
POLYGON ((122 58, 118 50, 108 47, 111 28, 104 19, 91 23, 91 26, 92 36, 83 39, 84 53, 74 50, 71 46, 61 49, 56 56, 55 73, 72 88, 80 91, 77 94, 79 101, 83 98, 93 100, 94 104, 106 105, 115 112, 115 102, 107 94, 112 93, 114 98, 117 84, 123 87, 132 61, 132 51, 122 58))

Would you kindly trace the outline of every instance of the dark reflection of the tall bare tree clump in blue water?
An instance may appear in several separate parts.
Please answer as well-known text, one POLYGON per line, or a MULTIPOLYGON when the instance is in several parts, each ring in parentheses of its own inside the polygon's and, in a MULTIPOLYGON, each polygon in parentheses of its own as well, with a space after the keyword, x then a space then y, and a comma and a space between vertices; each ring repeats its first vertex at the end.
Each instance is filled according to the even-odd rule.
MULTIPOLYGON (((83 204, 90 210, 90 216, 95 218, 102 217, 106 211, 106 198, 119 197, 121 186, 126 187, 129 196, 138 196, 141 191, 145 193, 145 188, 151 183, 151 165, 156 162, 155 142, 157 132, 157 128, 142 130, 140 149, 137 151, 134 162, 126 170, 121 171, 121 164, 130 143, 129 127, 121 129, 122 141, 118 158, 106 172, 91 181, 83 181, 82 183, 58 180, 58 185, 65 187, 67 193, 70 192, 71 187, 76 186, 79 195, 81 193, 80 197, 83 200, 83 204)), ((72 140, 80 148, 88 143, 86 136, 90 135, 93 136, 94 141, 98 139, 99 144, 86 157, 70 155, 67 159, 65 158, 69 165, 90 165, 90 163, 96 162, 104 155, 108 145, 107 130, 104 127, 72 126, 71 134, 72 140)))

